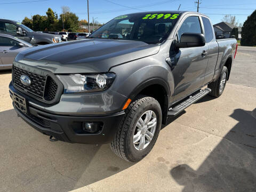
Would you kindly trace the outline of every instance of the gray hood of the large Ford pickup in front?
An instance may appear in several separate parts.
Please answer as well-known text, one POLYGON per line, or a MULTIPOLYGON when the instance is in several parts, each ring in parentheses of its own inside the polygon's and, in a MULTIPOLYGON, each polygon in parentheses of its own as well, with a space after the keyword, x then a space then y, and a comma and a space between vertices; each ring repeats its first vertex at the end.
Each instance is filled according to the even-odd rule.
POLYGON ((35 47, 15 61, 55 74, 107 72, 110 67, 156 54, 159 45, 114 39, 84 39, 35 47))

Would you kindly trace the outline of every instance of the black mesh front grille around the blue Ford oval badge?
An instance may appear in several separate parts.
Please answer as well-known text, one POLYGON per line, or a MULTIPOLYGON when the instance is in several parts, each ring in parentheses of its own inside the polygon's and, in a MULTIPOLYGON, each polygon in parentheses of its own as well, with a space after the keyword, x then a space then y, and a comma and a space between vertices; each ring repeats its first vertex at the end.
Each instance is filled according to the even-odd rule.
POLYGON ((58 84, 51 76, 39 75, 16 66, 13 66, 13 82, 22 91, 46 102, 53 101, 58 91, 58 84), (27 75, 31 79, 31 84, 23 85, 20 81, 21 75, 27 75))

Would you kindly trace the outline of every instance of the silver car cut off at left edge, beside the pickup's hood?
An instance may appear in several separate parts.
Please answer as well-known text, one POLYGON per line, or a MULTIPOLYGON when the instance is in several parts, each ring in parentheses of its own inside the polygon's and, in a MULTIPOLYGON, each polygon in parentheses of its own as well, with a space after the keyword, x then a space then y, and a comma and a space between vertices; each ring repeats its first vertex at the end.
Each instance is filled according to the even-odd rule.
POLYGON ((11 35, 0 34, 0 70, 11 69, 12 62, 16 55, 33 45, 13 37, 11 35))

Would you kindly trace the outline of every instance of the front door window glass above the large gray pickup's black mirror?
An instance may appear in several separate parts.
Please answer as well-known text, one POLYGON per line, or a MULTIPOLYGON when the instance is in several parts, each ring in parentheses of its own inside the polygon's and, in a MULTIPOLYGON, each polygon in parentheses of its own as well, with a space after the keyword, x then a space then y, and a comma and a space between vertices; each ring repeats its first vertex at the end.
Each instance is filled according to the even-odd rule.
POLYGON ((199 17, 191 16, 183 21, 178 31, 178 40, 183 33, 197 33, 202 34, 202 27, 199 21, 199 17))

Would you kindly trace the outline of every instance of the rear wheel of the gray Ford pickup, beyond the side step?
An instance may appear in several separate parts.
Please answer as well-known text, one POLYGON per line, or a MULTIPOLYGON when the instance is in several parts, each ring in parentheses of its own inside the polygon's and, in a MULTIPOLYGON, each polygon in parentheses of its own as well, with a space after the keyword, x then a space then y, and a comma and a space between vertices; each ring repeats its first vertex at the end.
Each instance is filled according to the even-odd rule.
POLYGON ((221 74, 219 78, 215 82, 208 84, 208 87, 212 90, 211 93, 209 93, 209 95, 216 98, 220 97, 220 95, 223 93, 226 87, 227 78, 228 78, 228 69, 226 66, 224 66, 221 70, 221 74), (222 77, 224 76, 225 76, 225 83, 223 84, 222 77), (221 87, 221 84, 223 84, 223 87, 221 87))

